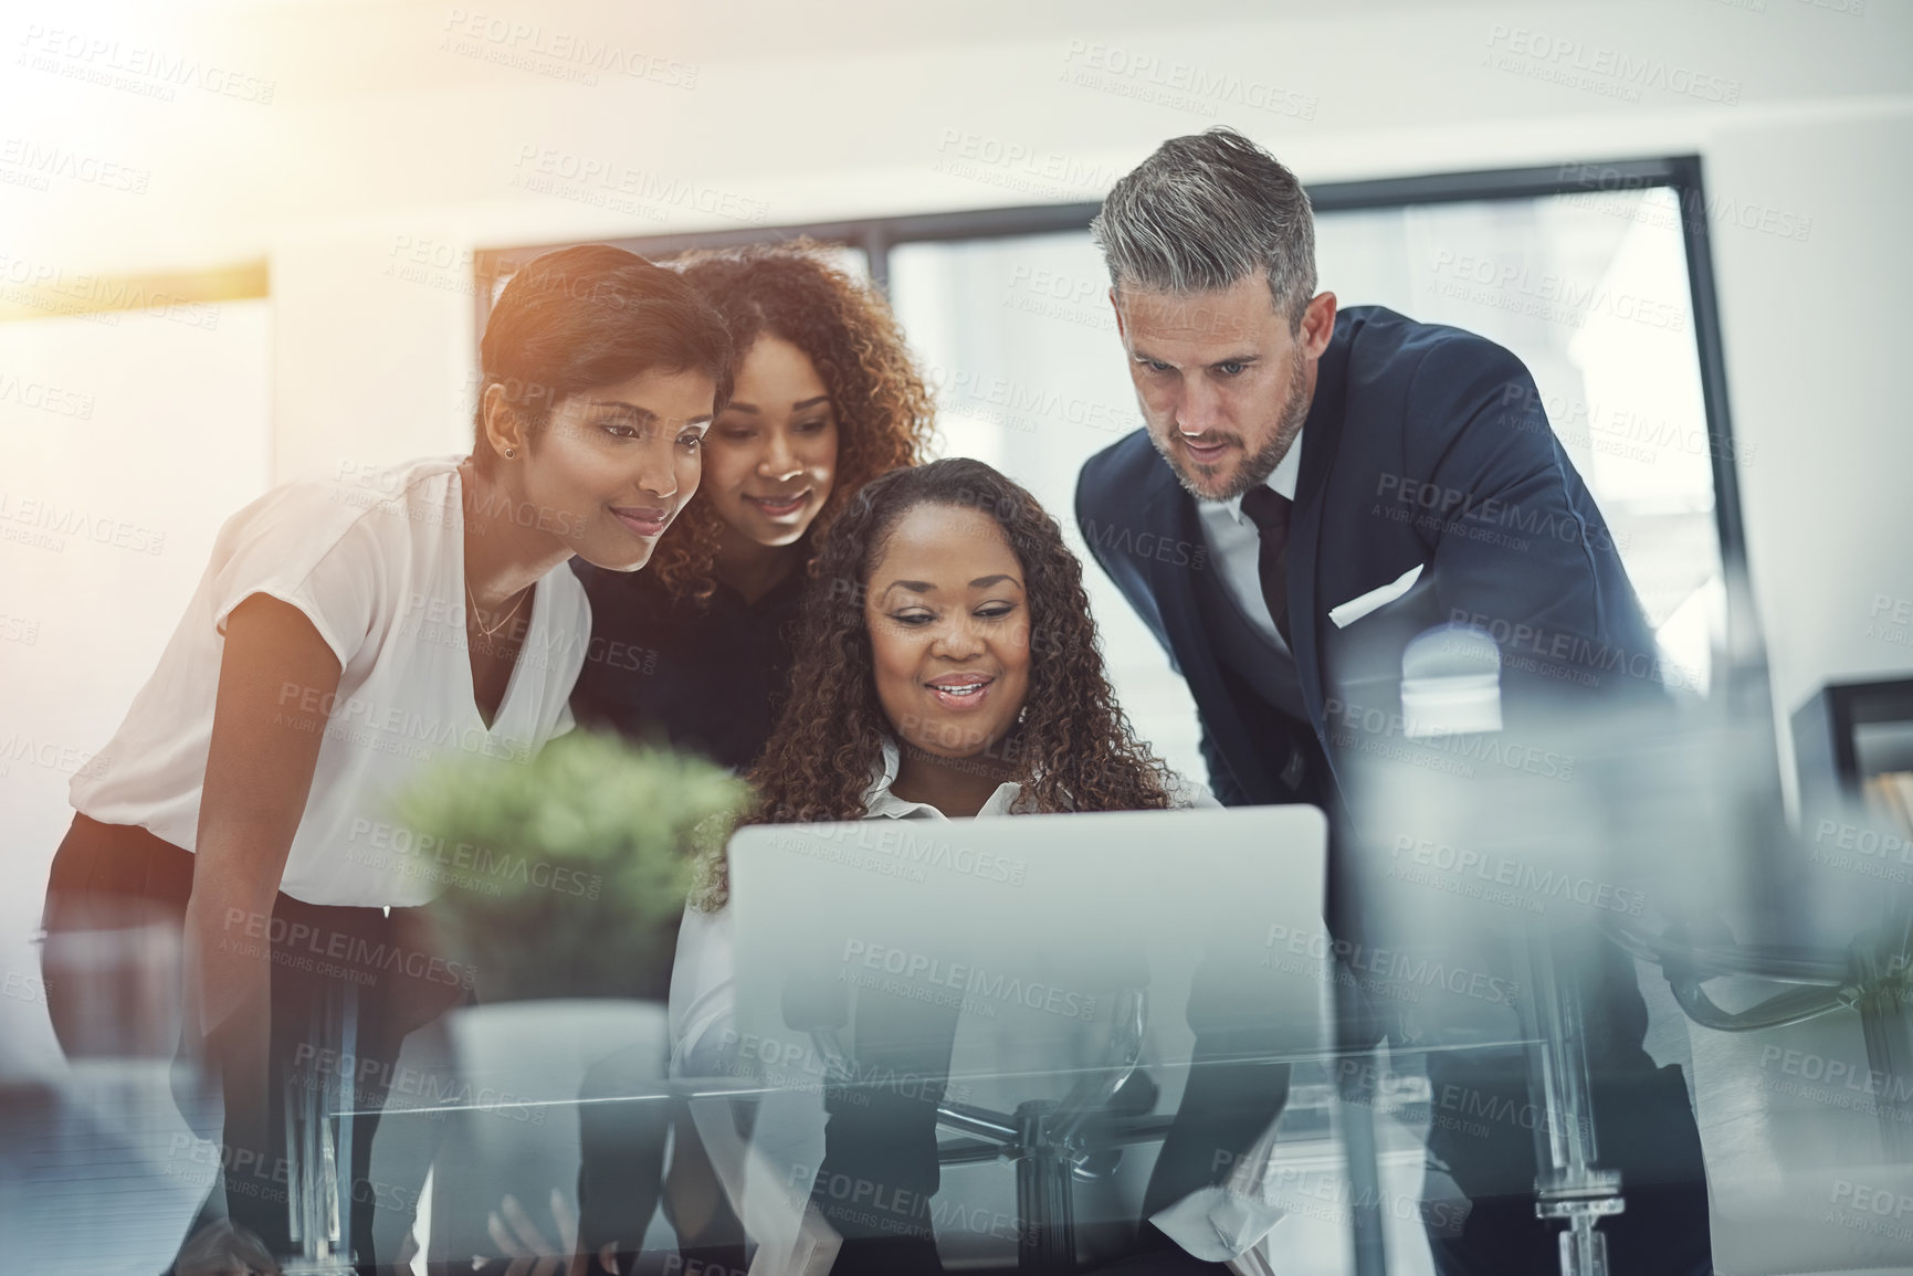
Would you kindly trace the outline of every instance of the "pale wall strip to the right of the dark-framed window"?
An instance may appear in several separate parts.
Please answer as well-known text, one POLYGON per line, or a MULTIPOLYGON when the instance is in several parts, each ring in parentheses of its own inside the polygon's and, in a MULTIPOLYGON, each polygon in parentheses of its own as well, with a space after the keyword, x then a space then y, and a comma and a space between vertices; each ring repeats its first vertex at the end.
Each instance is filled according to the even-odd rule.
POLYGON ((1913 671, 1913 111, 1724 130, 1708 180, 1814 216, 1806 241, 1716 239, 1735 429, 1754 444, 1748 562, 1791 714, 1825 681, 1913 671))

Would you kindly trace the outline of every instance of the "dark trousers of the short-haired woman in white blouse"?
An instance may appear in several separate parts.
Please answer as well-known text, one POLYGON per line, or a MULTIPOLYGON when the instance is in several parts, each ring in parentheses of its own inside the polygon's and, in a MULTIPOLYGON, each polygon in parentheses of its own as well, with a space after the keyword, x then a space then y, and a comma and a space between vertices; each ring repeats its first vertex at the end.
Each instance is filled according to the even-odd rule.
MULTIPOLYGON (((186 905, 193 890, 195 857, 143 828, 101 825, 84 815, 54 855, 46 890, 44 926, 48 960, 65 947, 84 945, 84 932, 163 928, 184 941, 186 905)), ((373 1213, 415 1213, 421 1184, 375 1184, 369 1177, 371 1142, 379 1110, 394 1081, 400 1046, 409 1031, 469 1001, 469 987, 455 962, 430 951, 419 909, 346 909, 310 905, 279 893, 272 918, 230 918, 220 943, 258 945, 272 960, 270 1052, 266 1077, 266 1142, 220 1142, 220 1182, 193 1232, 230 1217, 260 1236, 274 1255, 291 1255, 287 1215, 287 1096, 325 1089, 354 1115, 333 1123, 344 1154, 350 1140, 352 1188, 341 1213, 350 1211, 342 1238, 360 1270, 373 1270, 373 1213), (224 1201, 220 1199, 224 1196, 224 1201), (224 1209, 222 1209, 224 1205, 224 1209)), ((178 945, 174 945, 178 951, 178 945)), ((69 1058, 117 1052, 101 1041, 99 1002, 121 1004, 124 991, 113 978, 73 979, 50 972, 48 1010, 54 1033, 69 1058)), ((197 1043, 184 1041, 182 1054, 197 1056, 197 1043)))

